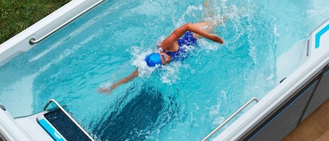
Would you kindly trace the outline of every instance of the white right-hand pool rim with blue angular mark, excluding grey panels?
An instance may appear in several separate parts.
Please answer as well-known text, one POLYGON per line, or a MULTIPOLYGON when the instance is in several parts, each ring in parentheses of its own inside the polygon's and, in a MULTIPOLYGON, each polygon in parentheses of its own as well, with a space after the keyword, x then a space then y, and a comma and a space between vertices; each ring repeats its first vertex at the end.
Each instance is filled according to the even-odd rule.
POLYGON ((253 128, 257 123, 273 111, 280 103, 287 100, 290 94, 298 90, 304 83, 320 72, 329 63, 329 20, 314 32, 311 32, 304 45, 304 62, 290 74, 281 84, 271 90, 260 102, 250 108, 238 120, 225 129, 215 140, 236 140, 253 128))

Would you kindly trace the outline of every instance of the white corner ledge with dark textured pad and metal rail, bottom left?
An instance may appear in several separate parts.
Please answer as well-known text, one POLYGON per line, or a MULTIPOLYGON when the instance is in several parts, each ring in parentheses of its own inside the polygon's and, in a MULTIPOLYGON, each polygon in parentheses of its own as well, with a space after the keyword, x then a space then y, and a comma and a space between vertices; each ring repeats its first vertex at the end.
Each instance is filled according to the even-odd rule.
MULTIPOLYGON (((43 108, 43 112, 14 119, 7 110, 2 109, 0 110, 0 119, 8 124, 6 130, 9 132, 6 133, 6 140, 94 141, 93 137, 55 100, 50 100, 43 108), (47 109, 51 103, 57 107, 47 109)), ((1 133, 5 134, 0 130, 0 136, 1 133)))

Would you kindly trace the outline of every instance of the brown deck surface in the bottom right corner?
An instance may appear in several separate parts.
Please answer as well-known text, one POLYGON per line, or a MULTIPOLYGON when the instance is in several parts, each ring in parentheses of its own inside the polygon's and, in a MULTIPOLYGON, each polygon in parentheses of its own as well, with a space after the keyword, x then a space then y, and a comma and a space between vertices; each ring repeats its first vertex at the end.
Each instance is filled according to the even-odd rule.
POLYGON ((307 119, 283 141, 327 141, 329 140, 329 100, 318 107, 307 119))

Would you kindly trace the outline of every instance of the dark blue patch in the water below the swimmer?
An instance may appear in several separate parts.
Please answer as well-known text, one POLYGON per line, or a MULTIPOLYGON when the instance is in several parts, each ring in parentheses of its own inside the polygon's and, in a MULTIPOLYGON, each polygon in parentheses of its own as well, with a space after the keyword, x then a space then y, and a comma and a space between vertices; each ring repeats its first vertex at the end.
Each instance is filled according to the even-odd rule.
POLYGON ((116 107, 120 108, 111 114, 105 110, 93 133, 100 140, 147 140, 178 115, 175 98, 169 100, 166 102, 156 88, 143 87, 132 100, 117 102, 116 107))

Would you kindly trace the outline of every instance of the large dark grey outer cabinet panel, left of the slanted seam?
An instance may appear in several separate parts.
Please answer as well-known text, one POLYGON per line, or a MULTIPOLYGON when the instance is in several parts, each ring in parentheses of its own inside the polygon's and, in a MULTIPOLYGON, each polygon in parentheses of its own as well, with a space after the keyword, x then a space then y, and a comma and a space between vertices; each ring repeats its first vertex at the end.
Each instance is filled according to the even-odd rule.
POLYGON ((271 116, 263 119, 257 128, 246 134, 243 140, 282 140, 291 130, 293 130, 300 122, 307 102, 314 92, 320 73, 314 76, 307 85, 294 93, 289 100, 283 102, 271 116))

